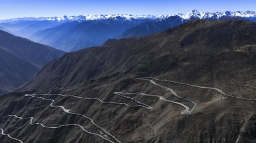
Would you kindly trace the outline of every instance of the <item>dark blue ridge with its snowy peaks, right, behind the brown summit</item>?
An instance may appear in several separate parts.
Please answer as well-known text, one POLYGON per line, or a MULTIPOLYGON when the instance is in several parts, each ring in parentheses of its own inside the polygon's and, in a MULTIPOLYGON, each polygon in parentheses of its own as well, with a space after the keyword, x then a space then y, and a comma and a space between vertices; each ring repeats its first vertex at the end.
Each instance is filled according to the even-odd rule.
POLYGON ((208 21, 217 20, 249 20, 256 21, 256 12, 245 11, 245 12, 200 12, 193 10, 187 14, 177 14, 170 16, 162 16, 161 19, 154 21, 146 21, 137 25, 136 27, 127 29, 119 36, 119 38, 144 36, 147 34, 153 34, 156 32, 164 31, 165 29, 176 27, 177 25, 187 23, 191 20, 203 19, 208 21))

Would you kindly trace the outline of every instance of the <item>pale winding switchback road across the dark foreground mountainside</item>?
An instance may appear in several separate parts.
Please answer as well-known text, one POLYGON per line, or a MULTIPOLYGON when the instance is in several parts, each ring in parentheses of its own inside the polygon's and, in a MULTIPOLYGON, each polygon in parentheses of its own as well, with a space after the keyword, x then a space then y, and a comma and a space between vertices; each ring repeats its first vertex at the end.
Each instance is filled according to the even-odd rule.
MULTIPOLYGON (((119 96, 122 96, 122 97, 125 97, 127 99, 131 99, 137 103, 139 103, 139 105, 128 105, 127 103, 121 103, 121 102, 105 102, 105 101, 102 101, 101 99, 99 98, 86 98, 86 97, 77 97, 77 96, 65 96, 63 94, 39 94, 41 96, 63 96, 63 97, 73 97, 73 98, 79 98, 79 99, 90 99, 90 100, 97 100, 97 101, 100 101, 101 103, 112 103, 112 104, 115 104, 115 105, 125 105, 125 106, 128 106, 128 107, 143 107, 143 108, 146 108, 146 109, 152 109, 152 106, 150 105, 147 105, 145 103, 142 103, 140 101, 138 101, 136 98, 134 97, 129 97, 129 95, 131 94, 138 94, 138 95, 141 95, 141 96, 150 96, 150 97, 158 97, 159 99, 161 100, 164 100, 166 102, 170 102, 170 103, 175 103, 177 105, 181 105, 183 107, 185 107, 185 110, 181 112, 181 114, 191 114, 191 112, 195 109, 196 107, 196 103, 193 102, 193 101, 190 101, 189 99, 185 99, 183 97, 180 97, 173 89, 171 88, 168 88, 166 86, 163 86, 163 85, 160 85, 158 83, 156 83, 155 81, 165 81, 165 82, 169 82, 169 83, 175 83, 175 84, 181 84, 181 85, 188 85, 188 86, 192 86, 192 87, 196 87, 196 88, 202 88, 202 89, 210 89, 210 90, 216 90, 217 92, 221 93, 222 95, 226 96, 226 97, 230 97, 230 98, 235 98, 235 99, 242 99, 242 100, 247 100, 247 101, 256 101, 256 99, 249 99, 249 98, 242 98, 242 97, 235 97, 235 96, 231 96, 229 94, 226 94, 224 92, 222 92, 222 90, 220 89, 217 89, 217 88, 210 88, 210 87, 205 87, 205 86, 199 86, 199 85, 192 85, 192 84, 185 84, 185 83, 179 83, 179 82, 176 82, 176 81, 170 81, 170 80, 159 80, 159 79, 155 79, 153 77, 143 77, 143 78, 138 78, 138 80, 147 80, 147 81, 150 81, 150 83, 154 84, 154 85, 157 85, 157 86, 160 86, 166 90, 169 90, 172 94, 174 94, 174 96, 176 96, 177 98, 180 98, 180 99, 183 99, 185 101, 188 101, 188 102, 191 102, 193 103, 193 107, 192 109, 190 109, 188 106, 184 105, 183 103, 180 103, 180 102, 175 102, 175 101, 171 101, 171 100, 168 100, 162 96, 158 96, 158 95, 154 95, 154 94, 146 94, 146 93, 141 93, 141 92, 134 92, 134 93, 125 93, 125 92, 114 92, 114 94, 117 94, 119 96), (155 80, 155 81, 154 81, 155 80), (125 96, 127 95, 127 96, 125 96)), ((87 131, 84 127, 82 127, 81 125, 79 124, 63 124, 63 125, 59 125, 57 127, 51 127, 51 126, 46 126, 42 123, 33 123, 33 117, 30 117, 30 118, 22 118, 20 116, 16 116, 16 115, 8 115, 8 116, 5 116, 3 118, 7 118, 9 116, 14 116, 15 118, 19 118, 21 120, 28 120, 30 119, 30 124, 31 125, 41 125, 43 128, 60 128, 60 127, 65 127, 65 126, 71 126, 71 125, 75 125, 79 128, 82 129, 82 131, 86 132, 86 133, 90 133, 91 135, 94 135, 94 136, 98 136, 98 137, 101 137, 102 139, 106 140, 106 141, 109 141, 109 142, 118 142, 118 143, 122 143, 121 141, 119 141, 117 138, 115 138, 113 135, 111 135, 109 132, 107 132, 105 129, 101 128, 99 125, 97 125, 96 123, 94 123, 94 121, 89 118, 88 116, 85 116, 85 115, 82 115, 82 114, 78 114, 78 113, 75 113, 75 112, 71 112, 69 109, 65 109, 64 106, 59 106, 59 105, 53 105, 53 103, 55 102, 55 100, 53 99, 47 99, 47 98, 43 98, 43 97, 38 97, 38 95, 36 94, 26 94, 25 95, 26 97, 32 97, 32 98, 39 98, 39 99, 43 99, 43 100, 46 100, 46 101, 51 101, 50 103, 50 106, 51 107, 59 107, 60 109, 62 109, 64 112, 68 113, 68 114, 73 114, 73 115, 78 115, 78 116, 81 116, 81 118, 86 118, 86 119, 89 119, 90 122, 95 125, 98 129, 100 129, 101 131, 103 131, 104 133, 106 133, 106 135, 100 135, 98 133, 93 133, 93 132, 89 132, 87 131), (106 137, 106 136, 109 136, 110 138, 113 138, 114 140, 110 140, 109 137, 106 137)), ((7 133, 4 133, 3 129, 0 128, 1 131, 2 131, 2 135, 7 135, 9 138, 13 139, 13 140, 16 140, 16 141, 19 141, 19 142, 22 142, 21 140, 19 140, 18 138, 14 138, 14 137, 11 137, 9 134, 7 133)), ((23 143, 23 142, 22 142, 23 143)))

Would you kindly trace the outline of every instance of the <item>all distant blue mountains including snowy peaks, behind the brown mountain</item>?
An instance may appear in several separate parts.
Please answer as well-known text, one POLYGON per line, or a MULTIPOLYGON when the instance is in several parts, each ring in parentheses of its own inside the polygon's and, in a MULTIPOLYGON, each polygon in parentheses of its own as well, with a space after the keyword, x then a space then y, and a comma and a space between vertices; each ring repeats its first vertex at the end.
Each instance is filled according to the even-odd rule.
POLYGON ((55 47, 76 51, 100 46, 109 38, 143 36, 163 31, 195 19, 256 21, 254 11, 200 12, 174 15, 86 15, 52 18, 17 18, 0 21, 0 27, 17 36, 55 47))

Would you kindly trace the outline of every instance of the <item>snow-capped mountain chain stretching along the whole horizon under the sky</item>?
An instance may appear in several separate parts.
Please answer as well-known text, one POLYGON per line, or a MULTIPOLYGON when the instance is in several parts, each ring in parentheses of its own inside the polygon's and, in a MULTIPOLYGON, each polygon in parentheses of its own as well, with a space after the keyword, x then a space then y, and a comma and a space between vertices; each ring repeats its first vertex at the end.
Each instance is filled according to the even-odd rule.
POLYGON ((162 20, 170 18, 171 16, 179 16, 182 19, 209 19, 209 18, 221 18, 222 16, 236 16, 242 18, 256 18, 255 11, 225 11, 225 12, 201 12, 193 10, 185 14, 166 14, 166 15, 129 15, 129 14, 112 14, 112 15, 79 15, 79 16, 55 16, 51 18, 15 18, 0 20, 0 22, 12 22, 12 21, 86 21, 86 20, 106 20, 106 19, 151 19, 162 20))

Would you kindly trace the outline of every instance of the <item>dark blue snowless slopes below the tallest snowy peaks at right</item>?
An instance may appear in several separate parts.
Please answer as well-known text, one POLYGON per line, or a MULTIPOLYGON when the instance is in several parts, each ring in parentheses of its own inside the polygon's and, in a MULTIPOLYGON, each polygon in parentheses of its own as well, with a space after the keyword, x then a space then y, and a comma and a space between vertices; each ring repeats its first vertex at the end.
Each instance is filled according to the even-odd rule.
MULTIPOLYGON (((144 36, 147 34, 152 34, 160 31, 164 31, 168 28, 176 27, 177 25, 187 23, 191 20, 198 20, 198 17, 191 17, 190 19, 182 19, 179 16, 170 16, 170 18, 156 21, 147 21, 145 23, 139 24, 133 28, 127 29, 121 34, 121 38, 134 37, 134 36, 144 36)), ((241 18, 237 16, 221 16, 218 18, 217 15, 210 18, 203 18, 208 21, 218 21, 218 20, 248 20, 255 21, 254 18, 241 18)))

